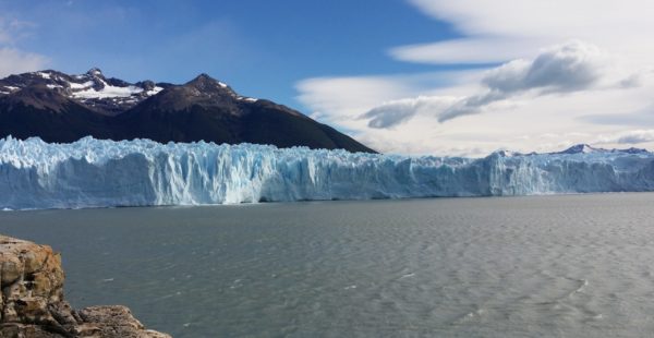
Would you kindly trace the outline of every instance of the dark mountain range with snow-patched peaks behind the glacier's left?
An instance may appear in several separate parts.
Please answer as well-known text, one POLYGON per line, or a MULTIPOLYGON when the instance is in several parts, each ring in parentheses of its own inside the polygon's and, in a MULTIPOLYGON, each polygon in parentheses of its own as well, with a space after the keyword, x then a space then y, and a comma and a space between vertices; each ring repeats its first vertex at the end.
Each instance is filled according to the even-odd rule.
POLYGON ((237 94, 201 74, 175 85, 107 79, 99 69, 47 70, 0 80, 0 137, 70 143, 110 140, 271 144, 374 153, 301 112, 237 94))

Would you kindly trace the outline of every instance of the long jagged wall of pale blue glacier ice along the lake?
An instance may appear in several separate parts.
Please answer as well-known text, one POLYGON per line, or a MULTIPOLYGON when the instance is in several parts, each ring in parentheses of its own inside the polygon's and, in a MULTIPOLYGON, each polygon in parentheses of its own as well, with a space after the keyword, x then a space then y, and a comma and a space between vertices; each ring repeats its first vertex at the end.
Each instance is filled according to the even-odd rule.
POLYGON ((654 154, 410 157, 267 145, 0 140, 0 209, 654 191, 654 154))

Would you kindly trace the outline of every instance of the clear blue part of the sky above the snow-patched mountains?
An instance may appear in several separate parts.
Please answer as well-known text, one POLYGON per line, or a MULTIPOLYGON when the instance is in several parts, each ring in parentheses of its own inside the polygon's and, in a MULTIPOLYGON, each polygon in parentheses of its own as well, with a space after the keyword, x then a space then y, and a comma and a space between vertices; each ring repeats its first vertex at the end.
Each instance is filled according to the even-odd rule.
POLYGON ((291 106, 301 104, 293 84, 302 79, 438 68, 397 62, 386 49, 456 35, 403 0, 0 3, 35 24, 16 46, 47 56, 53 69, 172 83, 205 72, 291 106))

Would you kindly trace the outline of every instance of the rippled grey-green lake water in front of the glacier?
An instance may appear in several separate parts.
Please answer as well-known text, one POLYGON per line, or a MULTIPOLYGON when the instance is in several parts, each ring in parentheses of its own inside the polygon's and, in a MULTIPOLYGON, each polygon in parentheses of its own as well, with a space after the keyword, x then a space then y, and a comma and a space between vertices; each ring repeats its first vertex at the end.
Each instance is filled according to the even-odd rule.
POLYGON ((654 194, 0 213, 174 337, 649 337, 654 194))

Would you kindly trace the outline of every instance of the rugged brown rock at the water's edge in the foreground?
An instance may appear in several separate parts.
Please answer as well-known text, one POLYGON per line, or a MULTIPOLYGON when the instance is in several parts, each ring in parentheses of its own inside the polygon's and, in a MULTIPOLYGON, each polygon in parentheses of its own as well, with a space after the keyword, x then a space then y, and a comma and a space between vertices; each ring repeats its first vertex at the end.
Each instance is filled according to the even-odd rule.
POLYGON ((170 337, 145 329, 125 306, 73 310, 63 279, 61 256, 50 246, 0 234, 0 337, 170 337))

